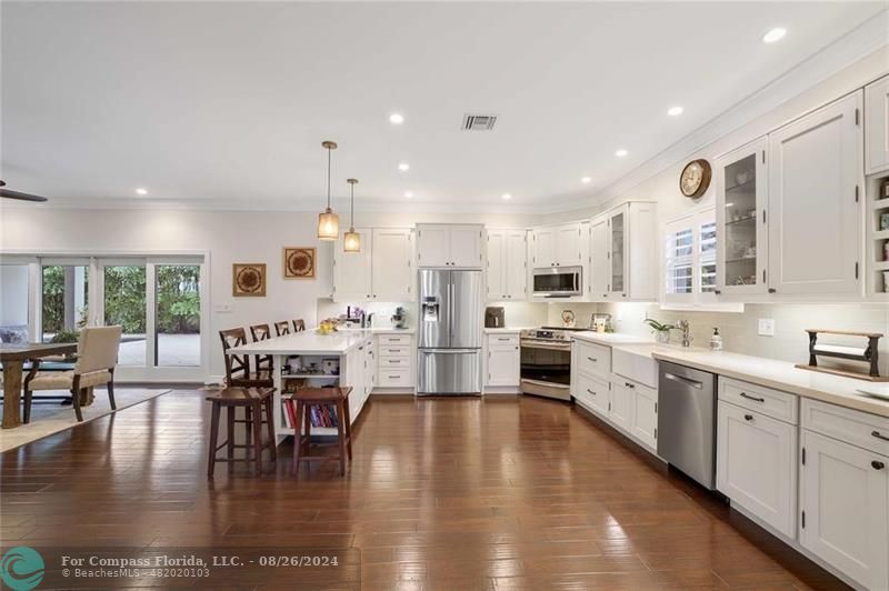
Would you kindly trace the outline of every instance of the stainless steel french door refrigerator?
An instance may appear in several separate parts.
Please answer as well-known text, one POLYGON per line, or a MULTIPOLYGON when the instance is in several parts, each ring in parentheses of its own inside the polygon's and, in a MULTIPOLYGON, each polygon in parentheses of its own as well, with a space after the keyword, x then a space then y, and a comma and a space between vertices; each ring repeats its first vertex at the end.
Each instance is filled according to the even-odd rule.
POLYGON ((417 393, 481 393, 481 271, 419 273, 417 393))

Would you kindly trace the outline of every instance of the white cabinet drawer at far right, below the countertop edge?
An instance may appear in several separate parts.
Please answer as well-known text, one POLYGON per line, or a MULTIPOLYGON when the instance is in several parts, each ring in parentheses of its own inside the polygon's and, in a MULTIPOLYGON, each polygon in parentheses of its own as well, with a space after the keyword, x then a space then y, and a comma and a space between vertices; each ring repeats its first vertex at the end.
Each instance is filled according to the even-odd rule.
POLYGON ((889 419, 818 400, 802 400, 802 427, 889 455, 889 419))

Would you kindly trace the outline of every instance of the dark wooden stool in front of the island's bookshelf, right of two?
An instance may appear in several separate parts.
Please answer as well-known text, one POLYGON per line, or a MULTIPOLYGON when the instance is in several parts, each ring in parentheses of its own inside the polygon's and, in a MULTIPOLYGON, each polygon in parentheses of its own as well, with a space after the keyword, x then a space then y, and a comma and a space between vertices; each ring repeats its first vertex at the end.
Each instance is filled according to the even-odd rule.
POLYGON ((301 461, 340 461, 340 475, 346 474, 346 457, 352 460, 352 427, 349 418, 349 394, 352 392, 350 385, 343 388, 306 388, 297 391, 290 397, 290 404, 296 405, 291 421, 296 429, 293 439, 293 473, 299 473, 299 462, 301 461), (337 447, 339 455, 309 455, 311 448, 312 422, 309 417, 309 409, 317 405, 333 404, 337 408, 337 447), (300 434, 300 420, 302 430, 300 434))

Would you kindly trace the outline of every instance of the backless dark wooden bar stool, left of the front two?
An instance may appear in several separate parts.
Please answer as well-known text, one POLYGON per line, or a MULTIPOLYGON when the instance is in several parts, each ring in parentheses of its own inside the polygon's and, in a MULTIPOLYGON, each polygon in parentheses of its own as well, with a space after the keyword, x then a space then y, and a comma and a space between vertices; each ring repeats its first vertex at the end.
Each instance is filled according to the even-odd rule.
POLYGON ((213 410, 210 419, 210 454, 207 462, 207 477, 213 477, 213 469, 216 462, 254 462, 256 473, 262 473, 262 450, 269 448, 271 450, 271 461, 277 461, 276 439, 274 439, 274 424, 272 424, 274 412, 272 410, 272 400, 274 397, 274 388, 227 388, 218 392, 213 392, 207 397, 207 400, 212 402, 213 410), (246 419, 236 419, 234 411, 238 407, 244 409, 246 419), (228 423, 226 441, 219 443, 219 415, 222 413, 222 408, 226 411, 226 419, 228 423), (264 418, 262 413, 266 413, 264 418), (268 441, 262 442, 262 423, 266 423, 268 430, 268 441), (238 444, 234 442, 234 424, 246 423, 247 425, 247 442, 238 444), (250 441, 252 439, 252 441, 250 441), (227 448, 224 458, 217 458, 217 452, 221 448, 227 448), (236 449, 244 449, 243 458, 234 458, 236 449))

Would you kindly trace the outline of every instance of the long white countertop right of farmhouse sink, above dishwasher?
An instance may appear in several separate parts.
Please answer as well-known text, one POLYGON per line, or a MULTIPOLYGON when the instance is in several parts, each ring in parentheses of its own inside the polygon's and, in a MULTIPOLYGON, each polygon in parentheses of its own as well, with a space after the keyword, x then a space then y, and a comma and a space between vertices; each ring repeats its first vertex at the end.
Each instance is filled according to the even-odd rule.
POLYGON ((859 388, 873 387, 871 382, 863 380, 799 369, 789 361, 697 347, 686 349, 663 344, 637 344, 617 348, 639 354, 648 353, 658 361, 669 361, 889 418, 889 401, 858 392, 859 388))

